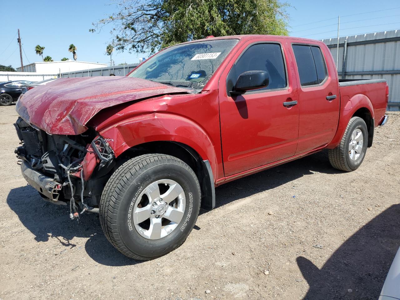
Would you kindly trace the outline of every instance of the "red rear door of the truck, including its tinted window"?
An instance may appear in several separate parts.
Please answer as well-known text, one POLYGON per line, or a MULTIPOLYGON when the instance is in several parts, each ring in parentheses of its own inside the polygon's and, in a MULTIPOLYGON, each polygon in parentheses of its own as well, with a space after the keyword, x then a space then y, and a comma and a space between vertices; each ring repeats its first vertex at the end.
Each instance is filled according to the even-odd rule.
POLYGON ((339 119, 338 76, 326 47, 292 44, 298 69, 299 134, 296 155, 332 141, 339 119), (325 58, 330 61, 327 64, 325 58))

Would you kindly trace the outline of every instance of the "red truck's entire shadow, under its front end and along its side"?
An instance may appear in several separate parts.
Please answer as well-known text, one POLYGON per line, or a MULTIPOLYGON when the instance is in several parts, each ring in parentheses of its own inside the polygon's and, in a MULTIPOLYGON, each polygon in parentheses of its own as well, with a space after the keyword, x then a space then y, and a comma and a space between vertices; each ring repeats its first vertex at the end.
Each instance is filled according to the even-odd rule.
MULTIPOLYGON (((313 174, 313 172, 342 173, 330 166, 326 153, 320 152, 224 184, 216 189, 217 206, 275 188, 304 175, 313 174), (240 188, 240 190, 236 188, 240 188), (235 192, 232 193, 232 190, 235 192)), ((84 248, 88 255, 100 264, 125 266, 139 263, 139 261, 131 260, 118 252, 108 242, 96 214, 85 214, 82 216, 80 224, 77 224, 76 221, 71 221, 69 218, 69 207, 43 201, 30 186, 12 189, 8 194, 7 204, 18 215, 22 224, 34 234, 35 240, 38 242, 56 239, 66 248, 74 248, 80 247, 71 242, 74 237, 88 238, 84 248)), ((200 213, 205 212, 207 211, 202 209, 200 213)))

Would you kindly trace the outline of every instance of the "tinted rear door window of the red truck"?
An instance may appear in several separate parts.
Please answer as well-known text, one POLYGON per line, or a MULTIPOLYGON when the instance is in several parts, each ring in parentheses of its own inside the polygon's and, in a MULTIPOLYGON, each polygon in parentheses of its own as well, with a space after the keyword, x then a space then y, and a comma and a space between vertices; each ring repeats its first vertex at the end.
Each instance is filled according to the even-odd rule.
POLYGON ((328 76, 324 57, 317 46, 293 45, 301 86, 322 83, 328 76))

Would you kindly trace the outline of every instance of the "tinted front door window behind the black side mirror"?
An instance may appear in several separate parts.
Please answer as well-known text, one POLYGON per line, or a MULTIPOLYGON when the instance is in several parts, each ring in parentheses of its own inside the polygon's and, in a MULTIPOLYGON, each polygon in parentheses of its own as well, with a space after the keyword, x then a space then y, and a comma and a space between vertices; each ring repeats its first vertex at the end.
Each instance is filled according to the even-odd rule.
POLYGON ((255 44, 247 48, 230 70, 226 87, 228 92, 236 84, 239 75, 246 71, 267 71, 270 82, 260 90, 286 88, 286 70, 282 49, 279 44, 255 44))

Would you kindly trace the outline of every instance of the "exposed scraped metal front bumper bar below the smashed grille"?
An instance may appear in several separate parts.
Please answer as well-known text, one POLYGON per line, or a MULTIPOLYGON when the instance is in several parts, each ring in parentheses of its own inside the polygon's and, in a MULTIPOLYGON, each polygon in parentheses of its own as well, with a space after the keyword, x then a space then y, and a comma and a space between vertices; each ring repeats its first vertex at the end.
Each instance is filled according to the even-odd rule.
POLYGON ((59 192, 62 188, 60 183, 38 172, 24 160, 21 164, 21 172, 25 180, 38 192, 51 200, 58 200, 58 196, 60 196, 59 192))

